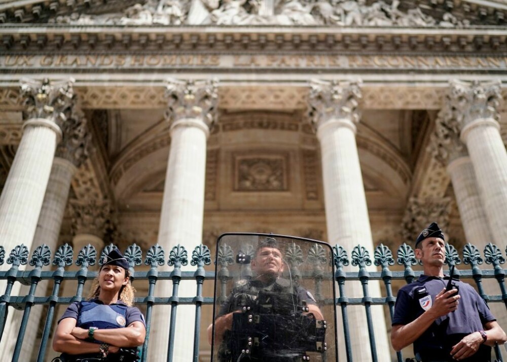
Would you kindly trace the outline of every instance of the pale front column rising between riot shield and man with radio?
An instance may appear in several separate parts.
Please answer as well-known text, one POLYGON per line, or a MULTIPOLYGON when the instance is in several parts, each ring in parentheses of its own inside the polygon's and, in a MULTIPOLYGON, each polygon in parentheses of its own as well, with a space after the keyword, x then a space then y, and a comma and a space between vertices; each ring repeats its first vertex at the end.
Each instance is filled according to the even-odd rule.
MULTIPOLYGON (((312 123, 317 130, 322 154, 325 216, 329 241, 352 250, 360 244, 373 252, 374 245, 366 204, 363 176, 355 141, 356 124, 359 122, 357 102, 361 97, 359 82, 316 82, 310 90, 309 103, 312 123)), ((373 270, 373 269, 372 269, 373 270)), ((360 283, 347 283, 348 297, 363 297, 360 283)), ((370 282, 370 294, 380 295, 378 282, 370 282)), ((368 341, 368 328, 364 307, 347 308, 351 329, 354 360, 372 360, 368 341)), ((375 339, 379 361, 389 361, 384 312, 372 307, 375 315, 375 339)), ((340 348, 341 353, 345 348, 340 348)), ((341 356, 345 359, 344 356, 341 356)))

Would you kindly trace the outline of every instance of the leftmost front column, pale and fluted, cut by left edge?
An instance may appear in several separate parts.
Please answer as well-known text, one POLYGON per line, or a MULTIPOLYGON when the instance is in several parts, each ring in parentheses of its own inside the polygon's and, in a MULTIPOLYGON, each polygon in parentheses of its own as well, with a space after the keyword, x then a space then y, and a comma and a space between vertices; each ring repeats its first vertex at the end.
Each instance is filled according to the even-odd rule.
MULTIPOLYGON (((74 105, 72 82, 21 81, 26 121, 18 151, 0 196, 0 235, 6 250, 19 244, 33 250, 32 241, 56 146, 62 138, 61 126, 74 105)), ((0 283, 0 289, 5 289, 5 282, 0 283)), ((12 295, 18 295, 19 291, 20 285, 14 284, 12 295)), ((19 318, 19 313, 9 313, 5 325, 6 336, 17 335, 19 320, 16 319, 19 318)), ((0 360, 10 360, 13 347, 14 341, 11 338, 3 338, 0 349, 6 353, 2 354, 0 360)))

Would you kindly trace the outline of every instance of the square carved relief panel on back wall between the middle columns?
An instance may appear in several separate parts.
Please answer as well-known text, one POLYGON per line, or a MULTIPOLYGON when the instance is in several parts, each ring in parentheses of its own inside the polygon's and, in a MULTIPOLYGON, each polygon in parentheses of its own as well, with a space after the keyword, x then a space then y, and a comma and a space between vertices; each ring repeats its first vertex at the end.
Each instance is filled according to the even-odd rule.
POLYGON ((234 155, 235 191, 286 191, 286 154, 234 155))

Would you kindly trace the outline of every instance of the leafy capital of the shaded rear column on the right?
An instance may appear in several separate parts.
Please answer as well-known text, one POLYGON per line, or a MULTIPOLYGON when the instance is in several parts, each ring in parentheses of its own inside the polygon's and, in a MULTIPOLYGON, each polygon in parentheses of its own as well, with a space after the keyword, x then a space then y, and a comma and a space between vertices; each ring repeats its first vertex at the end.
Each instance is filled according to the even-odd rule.
POLYGON ((465 144, 459 138, 460 123, 448 104, 440 110, 431 134, 428 152, 442 165, 447 166, 454 159, 466 156, 465 144))

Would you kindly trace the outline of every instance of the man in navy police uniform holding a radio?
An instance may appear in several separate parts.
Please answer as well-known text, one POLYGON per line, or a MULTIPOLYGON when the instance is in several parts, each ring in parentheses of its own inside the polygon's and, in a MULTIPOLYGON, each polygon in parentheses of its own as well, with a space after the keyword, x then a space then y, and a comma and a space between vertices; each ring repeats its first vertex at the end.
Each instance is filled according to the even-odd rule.
POLYGON ((400 289, 392 319, 391 343, 396 351, 414 344, 423 362, 490 362, 491 346, 506 340, 487 304, 469 284, 444 276, 444 234, 431 223, 416 240, 415 256, 424 274, 400 289))

